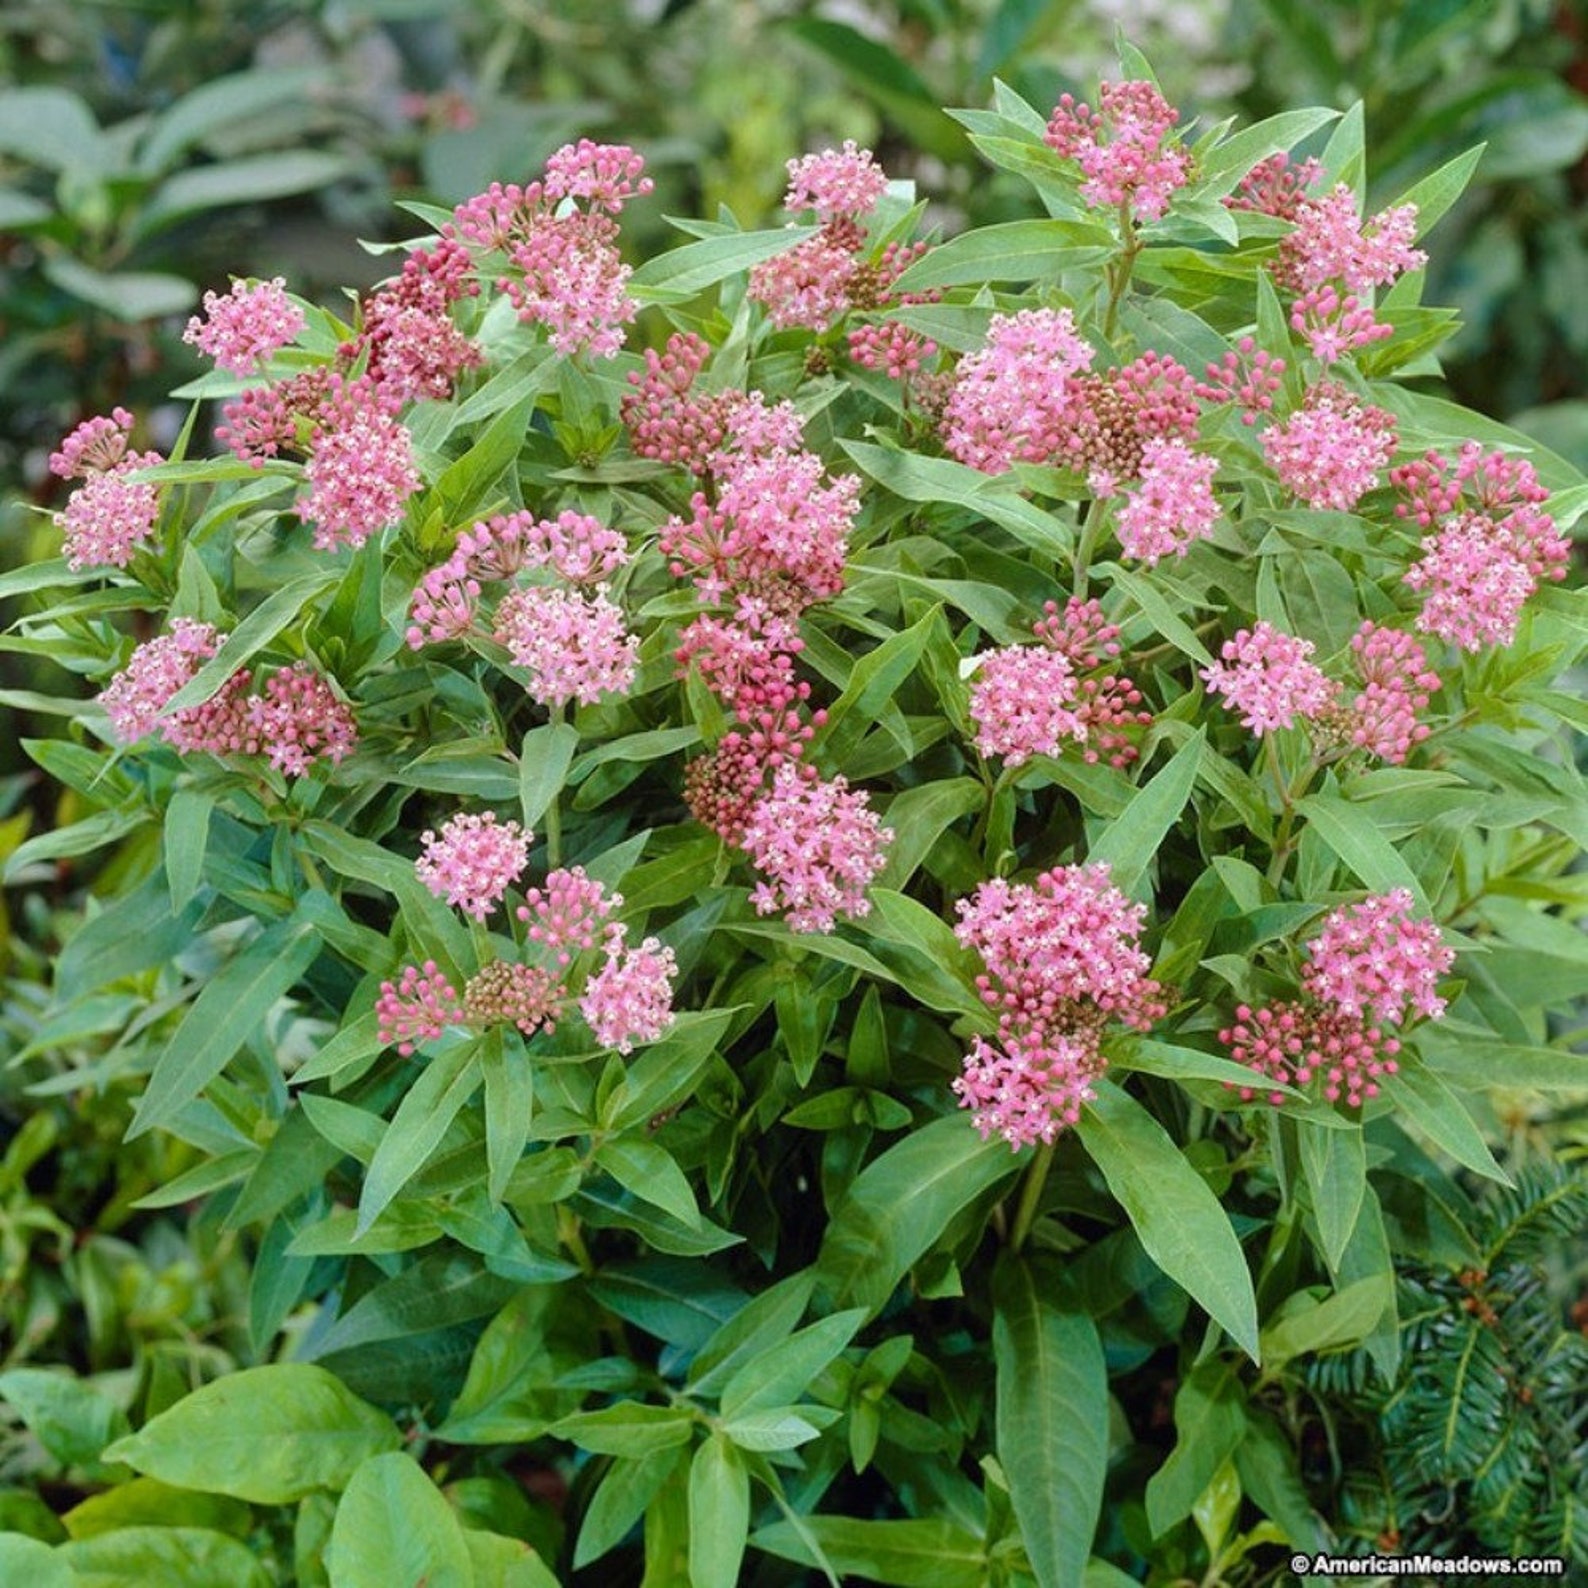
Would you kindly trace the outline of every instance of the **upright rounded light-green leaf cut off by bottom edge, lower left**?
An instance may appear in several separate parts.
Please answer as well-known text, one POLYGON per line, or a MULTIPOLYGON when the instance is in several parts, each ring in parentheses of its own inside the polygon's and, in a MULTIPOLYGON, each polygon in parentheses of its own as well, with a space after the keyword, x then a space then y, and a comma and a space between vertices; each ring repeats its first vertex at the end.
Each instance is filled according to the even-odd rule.
POLYGON ((370 1456, 353 1474, 326 1564, 330 1588, 475 1588, 453 1507, 400 1450, 370 1456))

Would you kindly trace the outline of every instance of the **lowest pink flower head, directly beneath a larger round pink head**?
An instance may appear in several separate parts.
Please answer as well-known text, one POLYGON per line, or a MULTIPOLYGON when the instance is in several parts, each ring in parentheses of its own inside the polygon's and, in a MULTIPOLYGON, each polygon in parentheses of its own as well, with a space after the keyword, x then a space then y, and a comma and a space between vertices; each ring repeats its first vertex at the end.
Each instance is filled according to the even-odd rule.
POLYGON ((1018 1151, 1075 1124, 1105 1069, 1093 1031, 1013 1034, 1004 1046, 973 1037, 953 1089, 983 1140, 1000 1135, 1018 1151))

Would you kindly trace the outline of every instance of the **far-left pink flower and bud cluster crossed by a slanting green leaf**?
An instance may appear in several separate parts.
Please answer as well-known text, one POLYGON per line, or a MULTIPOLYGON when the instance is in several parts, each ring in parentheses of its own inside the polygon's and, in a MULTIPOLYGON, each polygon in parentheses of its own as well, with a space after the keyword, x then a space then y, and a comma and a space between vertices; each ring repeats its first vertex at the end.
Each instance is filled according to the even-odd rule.
POLYGON ((132 745, 157 734, 184 754, 264 754, 287 777, 353 751, 359 737, 353 713, 306 662, 278 669, 257 688, 245 667, 203 703, 165 715, 224 638, 213 624, 178 618, 170 634, 140 645, 100 694, 116 737, 132 745))

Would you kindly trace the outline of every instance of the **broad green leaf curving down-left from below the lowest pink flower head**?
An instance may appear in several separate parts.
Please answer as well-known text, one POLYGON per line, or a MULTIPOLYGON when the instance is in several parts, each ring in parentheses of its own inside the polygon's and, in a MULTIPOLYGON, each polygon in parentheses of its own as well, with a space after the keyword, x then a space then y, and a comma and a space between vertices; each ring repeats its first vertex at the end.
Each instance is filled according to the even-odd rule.
POLYGON ((954 1215, 1016 1169, 1008 1145, 983 1142, 962 1115, 923 1126, 869 1164, 834 1208, 816 1285, 834 1309, 877 1312, 954 1215))

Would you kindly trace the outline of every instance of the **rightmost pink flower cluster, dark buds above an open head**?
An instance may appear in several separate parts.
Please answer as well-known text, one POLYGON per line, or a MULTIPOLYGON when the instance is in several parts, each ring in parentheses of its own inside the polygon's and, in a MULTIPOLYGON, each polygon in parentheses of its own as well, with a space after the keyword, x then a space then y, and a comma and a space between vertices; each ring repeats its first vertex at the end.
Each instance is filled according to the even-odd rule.
POLYGON ((1405 573, 1423 592, 1418 629, 1464 651, 1509 645, 1523 603, 1542 580, 1564 578, 1571 557, 1534 467, 1469 441, 1453 462, 1428 453, 1390 480, 1405 497, 1396 513, 1431 530, 1405 573))

